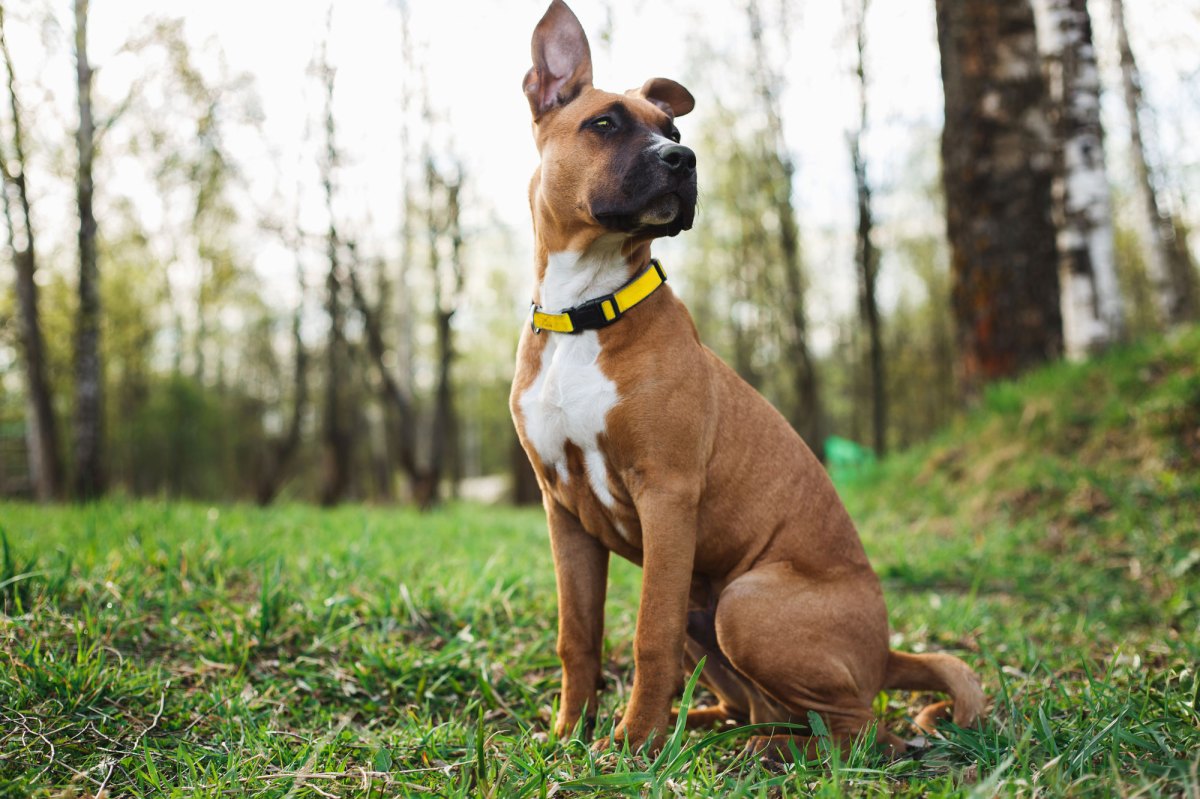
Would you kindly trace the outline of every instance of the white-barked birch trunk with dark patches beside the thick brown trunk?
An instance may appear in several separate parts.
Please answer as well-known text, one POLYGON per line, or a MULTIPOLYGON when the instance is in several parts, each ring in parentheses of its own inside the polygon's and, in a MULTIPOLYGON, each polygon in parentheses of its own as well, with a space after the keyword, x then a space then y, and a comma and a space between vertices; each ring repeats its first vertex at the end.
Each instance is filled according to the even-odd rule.
POLYGON ((1080 359, 1121 336, 1112 203, 1100 125, 1100 77, 1087 0, 1039 0, 1054 128, 1054 217, 1063 346, 1080 359))

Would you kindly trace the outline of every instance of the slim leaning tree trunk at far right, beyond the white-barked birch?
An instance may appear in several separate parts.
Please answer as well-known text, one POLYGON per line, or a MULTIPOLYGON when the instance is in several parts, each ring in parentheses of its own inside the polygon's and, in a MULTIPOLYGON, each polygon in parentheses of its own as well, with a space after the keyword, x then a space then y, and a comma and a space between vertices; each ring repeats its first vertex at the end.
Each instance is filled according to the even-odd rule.
POLYGON ((1124 1, 1112 0, 1112 28, 1121 54, 1121 84, 1126 113, 1129 115, 1129 155, 1133 160, 1134 184, 1141 205, 1141 233, 1146 247, 1146 272, 1154 304, 1164 324, 1174 325, 1195 318, 1200 312, 1196 296, 1195 268, 1186 241, 1176 236, 1177 224, 1165 214, 1146 157, 1146 142, 1141 128, 1141 77, 1138 61, 1129 46, 1126 28, 1124 1))

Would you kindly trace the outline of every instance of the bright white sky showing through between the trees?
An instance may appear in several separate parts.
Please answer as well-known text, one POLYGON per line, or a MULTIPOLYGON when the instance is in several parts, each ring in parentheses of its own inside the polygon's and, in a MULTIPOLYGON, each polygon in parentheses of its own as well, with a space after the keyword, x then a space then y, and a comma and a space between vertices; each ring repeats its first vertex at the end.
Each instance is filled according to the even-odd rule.
MULTIPOLYGON (((438 118, 431 137, 439 150, 454 151, 467 175, 468 224, 479 233, 476 246, 496 246, 492 229, 509 232, 500 253, 504 262, 528 264, 529 221, 526 190, 536 163, 529 134, 529 113, 521 78, 530 65, 529 37, 545 11, 545 0, 408 0, 416 59, 426 65, 431 106, 438 118)), ((850 73, 850 40, 842 4, 793 0, 787 30, 770 31, 775 54, 784 59, 787 89, 782 96, 785 128, 797 164, 796 198, 814 281, 815 318, 833 317, 853 307, 851 264, 853 184, 846 131, 854 115, 856 96, 850 73)), ((44 0, 8 4, 11 17, 37 19, 44 0)), ((65 30, 67 4, 58 4, 59 30, 42 26, 41 42, 25 35, 12 42, 19 64, 40 64, 38 83, 58 104, 61 125, 73 127, 73 76, 65 30), (58 41, 58 44, 54 42, 58 41)), ((746 38, 738 2, 684 0, 575 0, 572 8, 592 41, 598 85, 625 89, 652 76, 684 83, 695 72, 697 41, 712 42, 719 53, 746 38)), ((776 0, 762 0, 767 12, 776 0)), ((941 221, 928 203, 919 206, 924 187, 913 181, 913 151, 935 148, 942 118, 942 95, 932 0, 874 0, 868 28, 868 73, 871 121, 865 154, 876 186, 876 215, 886 226, 932 226, 941 221), (918 203, 914 208, 913 203, 918 203)), ((1194 130, 1200 97, 1181 71, 1196 61, 1200 40, 1200 0, 1133 0, 1127 2, 1147 73, 1151 100, 1163 108, 1159 138, 1163 149, 1181 152, 1194 174, 1200 161, 1194 130), (1152 44, 1153 47, 1151 47, 1152 44), (1190 60, 1189 60, 1190 59, 1190 60), (1189 144, 1189 142, 1192 144, 1189 144)), ((336 0, 329 32, 329 58, 337 68, 335 112, 343 166, 340 174, 338 216, 364 250, 380 256, 395 252, 400 216, 402 163, 401 96, 406 72, 401 60, 400 0, 336 0)), ((1093 18, 1102 55, 1105 52, 1108 2, 1093 0, 1093 18)), ((112 107, 137 79, 139 61, 122 47, 144 30, 151 17, 181 17, 188 41, 210 74, 252 77, 260 121, 236 130, 229 139, 247 182, 248 216, 295 204, 305 228, 324 224, 322 198, 314 182, 313 152, 319 143, 314 125, 322 97, 311 72, 326 37, 330 0, 92 0, 91 55, 100 67, 97 96, 112 107), (222 67, 222 64, 224 65, 222 67), (296 175, 304 178, 298 182, 296 175)), ((12 24, 12 23, 11 23, 12 24)), ((25 26, 26 31, 37 26, 25 26)), ((16 29, 14 29, 16 30, 16 29)), ((13 38, 11 36, 11 38, 13 38)), ((25 74, 32 72, 26 70, 25 74)), ((1111 80, 1109 67, 1109 85, 1111 80)), ((736 74, 730 76, 736 91, 736 74)), ((689 124, 703 114, 706 97, 697 92, 697 112, 680 120, 686 143, 689 124)), ((1110 142, 1121 139, 1120 98, 1105 102, 1110 142)), ((44 116, 43 116, 44 119, 44 116)), ((930 161, 926 158, 926 162, 930 161)), ((1120 179, 1118 148, 1109 161, 1120 179)), ((934 161, 936 164, 936 161, 934 161)), ((704 164, 701 163, 703 184, 704 164)), ((118 169, 109 187, 127 188, 146 218, 163 211, 160 198, 136 187, 132 172, 118 169), (125 180, 127 186, 122 186, 125 180)), ((61 218, 70 229, 70 185, 47 194, 38 214, 61 218)), ((703 217, 700 217, 703 224, 703 217)), ((53 227, 53 226, 52 226, 53 227)), ((65 238, 70 244, 70 236, 65 238)), ((65 245, 66 246, 66 245, 65 245)), ((667 263, 686 259, 685 236, 665 242, 658 253, 667 263)), ((488 260, 487 252, 476 258, 488 260)), ((886 253, 887 257, 887 253, 886 253)), ((292 260, 282 247, 262 241, 256 265, 268 281, 290 283, 292 260)), ((686 264, 682 265, 685 287, 686 264)), ((678 274, 679 270, 676 270, 678 274)), ((886 260, 884 306, 895 301, 904 281, 886 260)), ((522 278, 516 278, 521 284, 522 278)), ((284 289, 286 290, 286 289, 284 289)), ((526 290, 514 295, 515 308, 526 290)))

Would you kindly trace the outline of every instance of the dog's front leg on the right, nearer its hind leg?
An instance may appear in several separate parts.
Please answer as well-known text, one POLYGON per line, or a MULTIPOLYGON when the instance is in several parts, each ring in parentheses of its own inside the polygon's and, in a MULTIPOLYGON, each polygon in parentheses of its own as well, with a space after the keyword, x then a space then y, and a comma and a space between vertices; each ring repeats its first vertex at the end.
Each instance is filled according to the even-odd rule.
MULTIPOLYGON (((692 491, 655 488, 635 499, 642 523, 642 600, 634 635, 634 691, 613 743, 631 749, 662 744, 671 701, 682 684, 688 594, 696 554, 698 498, 692 491)), ((596 743, 598 749, 608 745, 596 743)))

